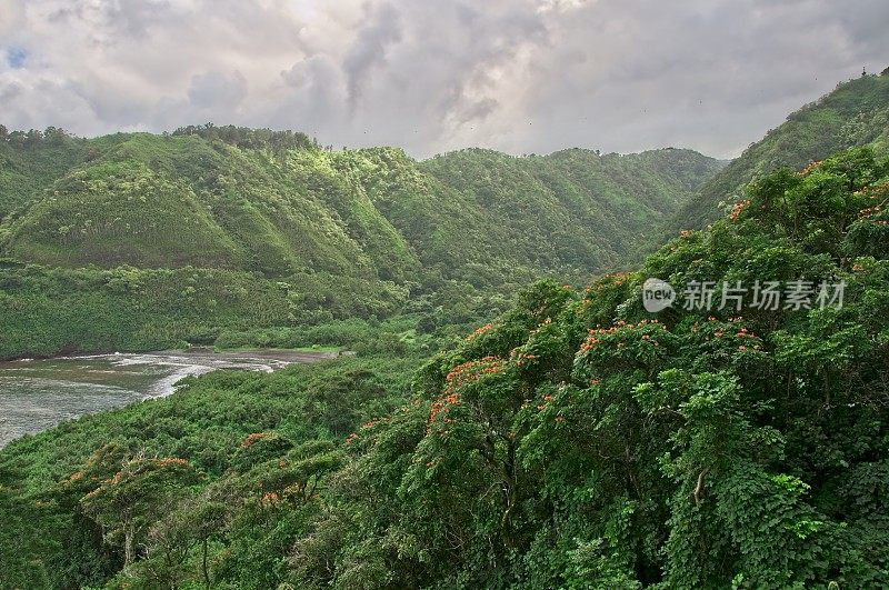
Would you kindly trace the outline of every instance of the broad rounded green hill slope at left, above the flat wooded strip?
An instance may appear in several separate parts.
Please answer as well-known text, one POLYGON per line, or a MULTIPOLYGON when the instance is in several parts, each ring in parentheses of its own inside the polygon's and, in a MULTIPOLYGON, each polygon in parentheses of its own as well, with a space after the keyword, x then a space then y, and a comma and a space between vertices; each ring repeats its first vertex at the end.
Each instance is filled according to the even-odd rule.
POLYGON ((373 272, 270 154, 193 136, 129 136, 53 183, 8 231, 11 256, 49 266, 373 272))

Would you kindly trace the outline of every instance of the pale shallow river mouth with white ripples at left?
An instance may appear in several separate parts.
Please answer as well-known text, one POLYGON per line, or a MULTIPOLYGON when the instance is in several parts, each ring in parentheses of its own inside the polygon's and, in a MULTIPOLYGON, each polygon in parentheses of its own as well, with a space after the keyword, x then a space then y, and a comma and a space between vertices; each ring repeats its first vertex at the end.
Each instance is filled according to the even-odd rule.
POLYGON ((0 362, 0 448, 66 420, 169 396, 189 376, 217 369, 271 372, 336 352, 209 349, 88 354, 0 362))

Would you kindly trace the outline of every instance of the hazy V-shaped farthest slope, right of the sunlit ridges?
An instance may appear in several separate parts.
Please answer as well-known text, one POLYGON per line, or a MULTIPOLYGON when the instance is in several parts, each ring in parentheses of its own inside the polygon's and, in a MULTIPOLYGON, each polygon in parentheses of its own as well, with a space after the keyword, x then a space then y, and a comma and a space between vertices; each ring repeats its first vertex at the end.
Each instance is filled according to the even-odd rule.
MULTIPOLYGON (((688 199, 720 163, 687 150, 513 158, 462 150, 421 163, 485 222, 486 252, 582 274, 618 263, 647 226, 688 199), (695 177, 691 184, 677 176, 695 177), (505 231, 503 231, 505 230, 505 231)), ((490 256, 490 254, 489 254, 490 256)))

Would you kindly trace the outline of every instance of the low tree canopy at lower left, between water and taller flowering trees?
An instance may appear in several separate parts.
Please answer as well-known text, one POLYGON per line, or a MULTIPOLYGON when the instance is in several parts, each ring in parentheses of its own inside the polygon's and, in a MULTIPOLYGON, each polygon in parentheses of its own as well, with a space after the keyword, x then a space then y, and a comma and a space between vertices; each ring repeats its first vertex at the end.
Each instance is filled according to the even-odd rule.
POLYGON ((321 477, 344 462, 342 439, 404 397, 418 361, 389 354, 218 371, 12 443, 0 457, 0 587, 103 584, 130 563, 148 588, 187 577, 243 588, 252 576, 273 588, 320 509, 321 477))

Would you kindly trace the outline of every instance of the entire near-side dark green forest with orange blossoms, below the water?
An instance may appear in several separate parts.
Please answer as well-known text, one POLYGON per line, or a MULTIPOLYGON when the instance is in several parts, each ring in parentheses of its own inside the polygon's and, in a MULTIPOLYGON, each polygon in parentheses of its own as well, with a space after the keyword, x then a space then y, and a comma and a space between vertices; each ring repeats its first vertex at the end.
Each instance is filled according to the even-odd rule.
POLYGON ((213 373, 11 443, 0 586, 889 584, 889 161, 748 196, 416 372, 402 341, 213 373), (655 316, 648 277, 843 280, 845 304, 655 316))

